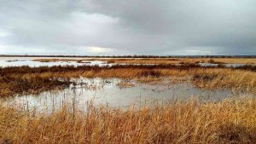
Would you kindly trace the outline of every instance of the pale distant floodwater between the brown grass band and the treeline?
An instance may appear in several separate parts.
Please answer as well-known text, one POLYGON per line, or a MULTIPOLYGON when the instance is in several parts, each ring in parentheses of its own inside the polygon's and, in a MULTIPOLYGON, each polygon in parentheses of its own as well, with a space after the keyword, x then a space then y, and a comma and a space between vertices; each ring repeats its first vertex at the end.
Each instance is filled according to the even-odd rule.
MULTIPOLYGON (((0 67, 8 66, 113 66, 113 65, 127 65, 127 63, 108 63, 107 58, 97 58, 91 60, 91 58, 74 58, 74 57, 0 57, 0 67), (42 60, 42 61, 40 61, 42 60), (44 61, 53 60, 53 61, 44 61), (56 61, 54 61, 56 60, 56 61)), ((126 59, 129 60, 129 59, 126 59)), ((142 60, 142 59, 137 59, 142 60)), ((131 65, 157 65, 154 63, 132 63, 131 65)), ((184 64, 174 63, 172 65, 183 66, 184 64)), ((245 64, 245 63, 196 63, 199 66, 225 66, 225 67, 238 67, 238 66, 256 66, 256 64, 245 64)))

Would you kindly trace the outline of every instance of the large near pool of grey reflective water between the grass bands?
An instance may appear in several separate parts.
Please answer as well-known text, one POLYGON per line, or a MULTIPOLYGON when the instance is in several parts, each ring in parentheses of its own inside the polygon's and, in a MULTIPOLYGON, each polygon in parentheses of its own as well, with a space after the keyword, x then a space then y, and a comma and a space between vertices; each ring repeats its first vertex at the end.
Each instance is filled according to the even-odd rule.
MULTIPOLYGON (((121 79, 81 78, 78 85, 59 91, 43 92, 39 95, 23 95, 2 98, 3 102, 15 103, 24 109, 47 110, 58 109, 64 103, 75 105, 83 110, 88 102, 95 105, 108 105, 110 107, 128 107, 149 105, 153 102, 164 104, 172 101, 190 101, 191 98, 199 101, 221 101, 228 97, 253 96, 250 94, 234 94, 230 89, 199 89, 192 84, 171 84, 165 80, 160 84, 139 84, 135 80, 128 83, 132 87, 119 87, 121 79)), ((127 83, 127 82, 126 82, 127 83)), ((128 85, 129 85, 128 84, 128 85)))

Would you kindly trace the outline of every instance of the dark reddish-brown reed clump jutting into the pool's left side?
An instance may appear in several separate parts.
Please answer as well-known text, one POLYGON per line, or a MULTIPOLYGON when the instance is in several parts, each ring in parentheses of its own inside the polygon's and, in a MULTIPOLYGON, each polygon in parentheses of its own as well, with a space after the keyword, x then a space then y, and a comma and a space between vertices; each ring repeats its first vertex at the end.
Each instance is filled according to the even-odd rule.
POLYGON ((43 74, 6 75, 0 77, 0 96, 38 94, 51 89, 63 89, 69 78, 55 78, 43 74))

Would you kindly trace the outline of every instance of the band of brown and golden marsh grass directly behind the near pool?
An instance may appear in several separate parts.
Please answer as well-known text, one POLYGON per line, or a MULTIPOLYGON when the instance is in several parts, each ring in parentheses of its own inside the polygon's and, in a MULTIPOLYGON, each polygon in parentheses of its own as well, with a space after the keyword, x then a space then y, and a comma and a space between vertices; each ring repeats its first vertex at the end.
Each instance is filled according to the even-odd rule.
POLYGON ((0 68, 0 96, 60 89, 70 78, 186 78, 207 89, 228 88, 256 93, 256 72, 222 67, 188 66, 54 66, 0 68))

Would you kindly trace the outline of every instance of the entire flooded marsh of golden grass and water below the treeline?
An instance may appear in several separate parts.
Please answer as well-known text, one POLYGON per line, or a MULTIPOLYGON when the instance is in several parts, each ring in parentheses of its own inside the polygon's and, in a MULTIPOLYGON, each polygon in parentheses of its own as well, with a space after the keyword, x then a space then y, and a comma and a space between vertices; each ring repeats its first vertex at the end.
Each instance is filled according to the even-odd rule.
POLYGON ((188 143, 191 135, 205 133, 202 143, 211 143, 208 137, 214 136, 233 142, 237 135, 237 143, 255 143, 254 64, 57 59, 1 58, 0 127, 5 139, 0 136, 0 143, 9 141, 10 133, 18 141, 14 143, 19 143, 17 137, 34 143, 35 134, 38 143, 48 140, 45 135, 59 141, 69 134, 99 140, 92 143, 106 136, 119 141, 123 135, 142 134, 148 140, 177 137, 166 143, 187 136, 180 143, 188 143))

